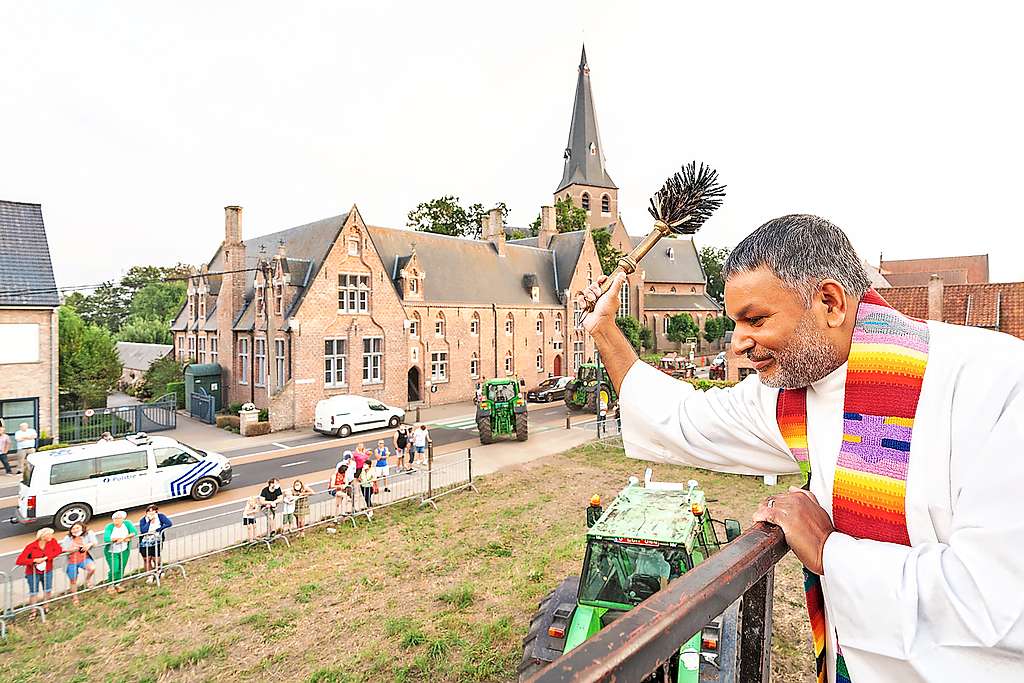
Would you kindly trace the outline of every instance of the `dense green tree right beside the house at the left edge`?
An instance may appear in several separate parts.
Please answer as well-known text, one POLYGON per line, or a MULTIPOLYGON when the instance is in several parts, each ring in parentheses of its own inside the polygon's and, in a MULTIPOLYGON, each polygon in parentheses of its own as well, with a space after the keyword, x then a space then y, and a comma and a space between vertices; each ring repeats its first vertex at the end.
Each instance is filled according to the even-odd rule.
POLYGON ((74 308, 58 309, 60 409, 106 405, 106 394, 121 378, 121 360, 111 333, 86 324, 74 308))

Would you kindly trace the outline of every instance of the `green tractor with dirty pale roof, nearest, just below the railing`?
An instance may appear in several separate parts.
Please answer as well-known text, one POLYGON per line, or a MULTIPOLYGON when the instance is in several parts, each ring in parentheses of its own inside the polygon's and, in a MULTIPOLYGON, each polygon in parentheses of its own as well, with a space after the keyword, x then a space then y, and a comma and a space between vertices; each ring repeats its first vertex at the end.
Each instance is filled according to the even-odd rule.
MULTIPOLYGON (((520 682, 718 552, 715 522, 726 543, 739 536, 736 520, 712 519, 696 481, 653 482, 650 469, 645 479, 631 477, 588 530, 583 578, 565 579, 541 601, 523 639, 520 682)), ((734 681, 738 611, 737 600, 646 680, 734 681)))

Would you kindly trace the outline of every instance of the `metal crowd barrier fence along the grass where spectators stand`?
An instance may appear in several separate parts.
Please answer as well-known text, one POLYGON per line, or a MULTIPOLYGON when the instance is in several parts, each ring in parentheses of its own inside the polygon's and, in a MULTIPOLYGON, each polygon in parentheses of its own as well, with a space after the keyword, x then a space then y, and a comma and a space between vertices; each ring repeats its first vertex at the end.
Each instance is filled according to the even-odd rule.
MULTIPOLYGON (((367 505, 365 487, 358 480, 336 492, 335 496, 329 493, 330 486, 314 490, 307 497, 308 513, 303 519, 296 519, 296 522, 290 524, 288 528, 283 528, 283 501, 279 499, 275 506, 264 506, 257 517, 255 540, 249 538, 249 527, 242 524, 240 510, 173 524, 167 527, 160 538, 154 537, 143 542, 152 541, 153 545, 148 547, 154 547, 154 552, 159 557, 158 565, 150 569, 144 565, 139 549, 139 538, 131 539, 125 550, 119 550, 113 547, 115 544, 104 546, 103 528, 94 529, 97 544, 89 553, 93 573, 88 586, 86 586, 88 572, 81 568, 78 569, 76 584, 72 584, 68 572, 70 556, 67 552, 53 561, 53 570, 50 572, 52 588, 49 595, 46 595, 45 590, 41 590, 42 599, 38 599, 34 604, 30 601, 29 583, 24 567, 15 566, 10 571, 0 571, 0 608, 2 608, 0 637, 6 638, 8 623, 19 616, 35 612, 45 621, 45 608, 61 601, 74 600, 78 596, 85 596, 96 590, 118 590, 127 582, 139 580, 146 580, 159 586, 169 572, 178 572, 181 577, 185 577, 187 562, 210 555, 253 545, 265 545, 267 549, 272 548, 275 543, 290 545, 290 537, 295 533, 329 524, 340 526, 343 523, 351 523, 355 526, 358 518, 369 521, 373 519, 374 511, 399 503, 418 501, 421 506, 436 507, 435 501, 438 498, 460 490, 476 490, 473 484, 473 454, 470 449, 466 449, 464 456, 455 461, 435 463, 431 446, 427 462, 426 470, 398 472, 375 479, 376 493, 373 493, 372 486, 368 487, 371 492, 370 506, 367 505), (304 523, 300 526, 300 522, 304 523), (213 526, 209 527, 211 524, 213 526), (200 525, 207 528, 199 528, 200 525), (115 550, 118 552, 115 553, 115 550), (121 573, 120 578, 118 573, 121 573)), ((142 514, 139 512, 140 517, 142 514)), ((132 520, 132 523, 136 524, 135 520, 132 520)), ((66 536, 66 532, 55 532, 53 538, 59 543, 66 536)), ((140 533, 140 536, 146 535, 140 533)), ((43 588, 45 589, 45 585, 43 588)))

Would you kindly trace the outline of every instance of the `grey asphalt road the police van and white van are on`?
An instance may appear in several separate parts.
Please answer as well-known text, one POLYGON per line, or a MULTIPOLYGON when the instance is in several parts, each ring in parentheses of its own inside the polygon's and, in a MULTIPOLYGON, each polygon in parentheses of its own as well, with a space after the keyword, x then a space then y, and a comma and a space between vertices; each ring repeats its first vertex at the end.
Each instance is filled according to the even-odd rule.
MULTIPOLYGON (((553 402, 548 405, 531 404, 529 410, 530 426, 532 428, 544 425, 557 424, 564 420, 565 405, 553 402)), ((477 432, 475 427, 467 425, 467 420, 451 418, 440 420, 437 423, 426 423, 430 430, 430 438, 434 444, 434 452, 445 451, 445 446, 475 439, 477 432), (445 426, 444 423, 464 425, 462 428, 445 426)), ((341 460, 342 453, 346 450, 354 449, 358 443, 365 443, 368 449, 373 449, 377 440, 383 438, 388 447, 393 449, 391 443, 392 429, 382 429, 353 434, 349 438, 341 439, 322 434, 310 433, 308 437, 301 437, 288 441, 288 449, 281 449, 281 455, 276 455, 272 449, 267 446, 254 446, 224 452, 232 463, 234 470, 231 483, 221 493, 212 499, 203 502, 191 499, 179 499, 162 505, 162 508, 173 515, 174 522, 196 522, 193 524, 195 530, 215 528, 227 523, 238 523, 238 514, 225 515, 224 513, 239 513, 244 506, 238 493, 247 486, 256 486, 266 483, 267 479, 278 477, 286 485, 296 478, 303 478, 306 484, 315 483, 315 478, 310 479, 306 475, 323 473, 325 470, 333 470, 338 461, 341 460), (315 447, 323 443, 322 447, 315 447), (296 453, 295 451, 299 451, 296 453), (232 492, 234 496, 232 496, 232 492), (232 500, 236 499, 236 500, 232 500), (221 516, 223 515, 223 516, 221 516)), ((478 442, 477 442, 478 443, 478 442)), ((472 446, 473 443, 467 443, 472 446)), ((451 449, 449 449, 451 450, 451 449)), ((438 454, 439 455, 439 454, 438 454)), ((456 456, 451 456, 455 458, 456 456)), ((323 490, 324 484, 316 488, 323 490)), ((5 497, 16 497, 16 486, 5 486, 0 488, 0 499, 5 497)), ((326 498, 326 494, 315 497, 313 500, 326 498)), ((9 498, 7 499, 10 500, 9 498)), ((12 501, 13 502, 13 501, 12 501)), ((11 524, 8 523, 10 517, 16 514, 16 508, 8 503, 0 508, 0 570, 7 570, 8 565, 13 562, 12 551, 19 550, 22 546, 29 542, 35 530, 44 524, 11 524), (18 538, 19 537, 19 538, 18 538)), ((129 518, 137 519, 142 515, 142 509, 128 510, 129 518)), ((106 521, 108 515, 97 517, 97 523, 106 521)))

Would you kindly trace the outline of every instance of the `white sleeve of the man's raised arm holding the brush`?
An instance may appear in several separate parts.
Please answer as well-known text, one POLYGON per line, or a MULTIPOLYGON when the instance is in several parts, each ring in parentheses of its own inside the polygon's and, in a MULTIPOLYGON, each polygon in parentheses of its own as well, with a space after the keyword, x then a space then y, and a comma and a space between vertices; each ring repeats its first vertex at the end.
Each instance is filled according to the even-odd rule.
POLYGON ((757 377, 698 391, 637 360, 620 394, 631 458, 735 474, 800 471, 775 420, 778 392, 757 377))

